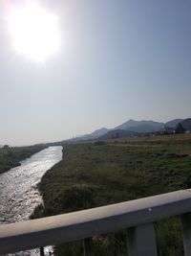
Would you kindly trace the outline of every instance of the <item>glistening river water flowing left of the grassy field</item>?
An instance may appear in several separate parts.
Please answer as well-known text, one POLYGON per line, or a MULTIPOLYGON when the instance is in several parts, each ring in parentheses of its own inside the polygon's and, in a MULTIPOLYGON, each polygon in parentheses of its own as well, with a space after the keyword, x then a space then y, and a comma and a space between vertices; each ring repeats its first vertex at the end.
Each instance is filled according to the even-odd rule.
MULTIPOLYGON (((29 220, 35 206, 42 203, 37 184, 61 159, 62 147, 49 147, 0 175, 0 224, 29 220)), ((36 251, 24 252, 22 255, 36 255, 36 251)))

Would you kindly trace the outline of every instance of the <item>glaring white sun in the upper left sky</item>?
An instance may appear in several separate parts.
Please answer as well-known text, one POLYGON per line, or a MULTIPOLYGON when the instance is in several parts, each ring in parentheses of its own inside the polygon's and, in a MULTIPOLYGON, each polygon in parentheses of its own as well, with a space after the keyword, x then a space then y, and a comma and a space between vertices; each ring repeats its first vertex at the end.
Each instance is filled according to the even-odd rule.
POLYGON ((58 19, 36 1, 11 8, 9 30, 17 53, 36 62, 53 56, 60 46, 58 19))

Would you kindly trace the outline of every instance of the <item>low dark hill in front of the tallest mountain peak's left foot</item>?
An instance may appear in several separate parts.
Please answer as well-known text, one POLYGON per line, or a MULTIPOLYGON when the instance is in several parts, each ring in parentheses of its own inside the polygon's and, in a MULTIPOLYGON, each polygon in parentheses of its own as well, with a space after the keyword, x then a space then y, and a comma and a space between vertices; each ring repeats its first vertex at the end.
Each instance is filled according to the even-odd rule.
POLYGON ((109 140, 109 139, 117 139, 117 138, 127 138, 127 137, 135 137, 138 135, 138 132, 128 131, 124 129, 112 129, 109 130, 106 134, 100 136, 99 140, 109 140))

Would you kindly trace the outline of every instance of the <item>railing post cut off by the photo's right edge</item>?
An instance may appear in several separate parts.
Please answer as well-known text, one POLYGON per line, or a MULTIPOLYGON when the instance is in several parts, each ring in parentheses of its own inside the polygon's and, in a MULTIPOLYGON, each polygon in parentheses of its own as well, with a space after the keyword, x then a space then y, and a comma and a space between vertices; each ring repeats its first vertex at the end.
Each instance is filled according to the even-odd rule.
POLYGON ((184 255, 191 255, 191 213, 181 215, 184 255))

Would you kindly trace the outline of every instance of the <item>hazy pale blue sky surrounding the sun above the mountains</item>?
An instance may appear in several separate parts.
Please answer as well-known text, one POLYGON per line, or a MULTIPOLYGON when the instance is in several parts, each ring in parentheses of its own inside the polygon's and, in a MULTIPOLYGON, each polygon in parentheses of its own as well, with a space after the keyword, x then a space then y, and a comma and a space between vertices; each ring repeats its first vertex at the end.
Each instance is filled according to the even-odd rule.
POLYGON ((43 63, 14 51, 0 0, 0 144, 191 117, 190 0, 38 2, 61 36, 43 63))

